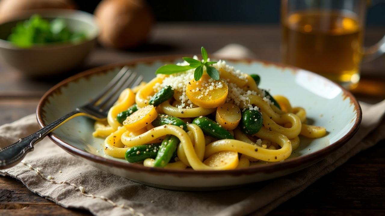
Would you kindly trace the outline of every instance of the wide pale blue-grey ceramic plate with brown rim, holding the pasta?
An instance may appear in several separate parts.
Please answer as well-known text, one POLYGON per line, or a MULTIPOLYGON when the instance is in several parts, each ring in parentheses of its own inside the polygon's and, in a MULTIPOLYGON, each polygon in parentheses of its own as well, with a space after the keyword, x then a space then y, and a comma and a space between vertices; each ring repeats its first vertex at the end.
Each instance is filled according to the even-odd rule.
MULTIPOLYGON (((44 127, 98 95, 124 65, 130 66, 149 81, 159 66, 180 60, 181 56, 145 58, 102 66, 72 76, 54 86, 40 100, 37 108, 39 125, 44 127)), ((293 106, 305 108, 308 121, 325 127, 327 135, 318 139, 300 137, 299 148, 284 161, 225 171, 149 168, 112 158, 102 150, 103 139, 92 136, 94 121, 86 117, 68 121, 49 136, 80 160, 133 181, 159 188, 213 190, 277 178, 303 169, 335 151, 357 131, 361 122, 360 106, 348 91, 332 81, 309 71, 276 63, 226 61, 243 72, 258 73, 261 76, 261 88, 271 90, 273 95, 285 95, 293 106)))

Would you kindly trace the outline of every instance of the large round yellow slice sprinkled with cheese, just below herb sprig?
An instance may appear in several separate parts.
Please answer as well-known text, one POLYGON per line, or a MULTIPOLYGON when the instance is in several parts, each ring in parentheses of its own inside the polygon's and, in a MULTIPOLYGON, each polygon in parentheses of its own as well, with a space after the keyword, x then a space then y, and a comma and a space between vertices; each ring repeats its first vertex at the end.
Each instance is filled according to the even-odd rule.
POLYGON ((203 75, 200 80, 191 80, 186 86, 187 97, 202 108, 216 108, 226 102, 228 95, 228 86, 225 83, 209 80, 209 75, 203 75), (221 85, 211 85, 219 82, 221 85))

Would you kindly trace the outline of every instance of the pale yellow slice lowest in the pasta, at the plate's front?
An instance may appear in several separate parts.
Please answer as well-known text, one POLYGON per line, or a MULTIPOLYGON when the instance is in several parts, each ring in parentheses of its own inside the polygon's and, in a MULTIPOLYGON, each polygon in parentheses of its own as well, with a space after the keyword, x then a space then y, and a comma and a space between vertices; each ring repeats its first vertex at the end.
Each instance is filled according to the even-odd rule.
POLYGON ((219 151, 209 156, 203 163, 221 169, 235 169, 239 163, 238 153, 236 151, 219 151))

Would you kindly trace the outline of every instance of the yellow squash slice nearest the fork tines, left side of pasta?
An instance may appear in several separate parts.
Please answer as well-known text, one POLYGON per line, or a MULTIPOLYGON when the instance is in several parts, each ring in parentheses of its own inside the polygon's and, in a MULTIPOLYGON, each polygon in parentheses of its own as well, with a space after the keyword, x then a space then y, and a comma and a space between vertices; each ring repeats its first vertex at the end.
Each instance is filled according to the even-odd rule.
POLYGON ((123 125, 128 131, 137 131, 151 124, 156 119, 158 113, 154 106, 147 105, 132 113, 123 121, 123 125))

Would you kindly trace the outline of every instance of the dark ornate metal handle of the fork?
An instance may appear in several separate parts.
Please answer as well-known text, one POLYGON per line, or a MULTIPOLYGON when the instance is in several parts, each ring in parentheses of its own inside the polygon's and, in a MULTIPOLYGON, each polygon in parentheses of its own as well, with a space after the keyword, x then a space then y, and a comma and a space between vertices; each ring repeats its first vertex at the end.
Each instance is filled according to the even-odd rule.
POLYGON ((0 149, 0 169, 10 168, 19 163, 28 152, 33 151, 33 146, 35 143, 42 140, 47 136, 51 131, 55 130, 57 127, 65 123, 66 121, 81 115, 82 113, 79 110, 72 111, 67 115, 59 118, 58 120, 50 123, 39 131, 25 137, 21 138, 16 143, 13 143, 5 148, 0 149))

